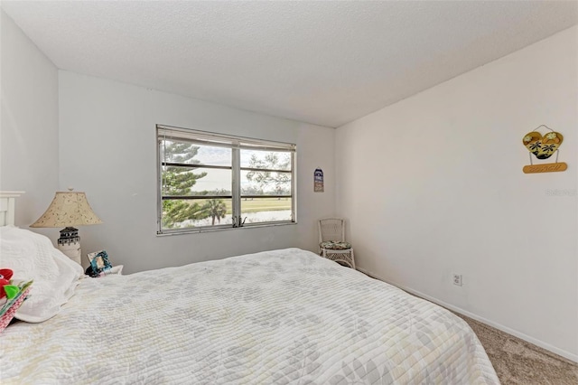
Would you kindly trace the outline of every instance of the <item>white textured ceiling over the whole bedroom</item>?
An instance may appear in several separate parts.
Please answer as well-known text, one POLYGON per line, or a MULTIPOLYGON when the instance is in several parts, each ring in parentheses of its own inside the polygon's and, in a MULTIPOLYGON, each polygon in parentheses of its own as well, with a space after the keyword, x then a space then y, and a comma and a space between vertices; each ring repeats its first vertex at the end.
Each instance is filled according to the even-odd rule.
POLYGON ((12 2, 71 70, 339 127, 578 23, 578 2, 12 2))

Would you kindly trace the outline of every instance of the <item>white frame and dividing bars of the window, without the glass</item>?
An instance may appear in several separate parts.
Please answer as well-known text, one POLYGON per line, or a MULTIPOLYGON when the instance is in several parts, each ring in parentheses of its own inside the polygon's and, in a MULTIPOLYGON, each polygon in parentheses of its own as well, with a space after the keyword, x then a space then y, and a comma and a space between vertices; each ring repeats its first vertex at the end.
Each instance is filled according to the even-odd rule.
MULTIPOLYGON (((230 230, 240 228, 252 228, 263 226, 278 226, 297 223, 297 146, 292 143, 274 142, 244 136, 232 136, 211 133, 207 131, 171 127, 165 125, 156 125, 156 158, 157 158, 157 235, 173 235, 183 233, 195 233, 215 230, 230 230), (164 159, 161 159, 161 144, 164 140, 174 140, 179 142, 190 142, 200 146, 221 146, 232 149, 231 161, 231 196, 226 199, 232 200, 232 217, 233 224, 199 226, 191 228, 177 228, 177 229, 163 229, 163 200, 164 199, 207 199, 206 196, 187 196, 187 197, 173 197, 163 196, 163 164, 164 159), (263 150, 263 151, 282 151, 291 153, 291 195, 283 195, 291 198, 291 220, 288 221, 262 221, 256 223, 244 223, 241 216, 241 186, 240 174, 241 170, 247 170, 247 167, 240 166, 240 150, 263 150)), ((279 170, 269 170, 279 171, 279 170)), ((243 195, 243 197, 277 197, 276 195, 243 195)))

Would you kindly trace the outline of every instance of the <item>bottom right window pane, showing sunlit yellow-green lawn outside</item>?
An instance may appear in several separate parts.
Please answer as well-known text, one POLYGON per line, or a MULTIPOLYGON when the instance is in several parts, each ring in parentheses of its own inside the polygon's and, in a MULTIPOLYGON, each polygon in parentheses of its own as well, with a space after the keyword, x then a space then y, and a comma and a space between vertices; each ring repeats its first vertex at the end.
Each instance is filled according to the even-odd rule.
POLYGON ((241 199, 241 217, 245 224, 291 221, 291 198, 243 198, 241 199))

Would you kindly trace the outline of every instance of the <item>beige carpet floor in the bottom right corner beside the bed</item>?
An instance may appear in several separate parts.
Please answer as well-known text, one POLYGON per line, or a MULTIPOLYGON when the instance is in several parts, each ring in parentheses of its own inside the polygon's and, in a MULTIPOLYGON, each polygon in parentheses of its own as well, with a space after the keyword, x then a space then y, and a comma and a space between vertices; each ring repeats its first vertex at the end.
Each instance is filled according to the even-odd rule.
POLYGON ((487 324, 459 316, 478 335, 503 385, 578 384, 576 363, 487 324))

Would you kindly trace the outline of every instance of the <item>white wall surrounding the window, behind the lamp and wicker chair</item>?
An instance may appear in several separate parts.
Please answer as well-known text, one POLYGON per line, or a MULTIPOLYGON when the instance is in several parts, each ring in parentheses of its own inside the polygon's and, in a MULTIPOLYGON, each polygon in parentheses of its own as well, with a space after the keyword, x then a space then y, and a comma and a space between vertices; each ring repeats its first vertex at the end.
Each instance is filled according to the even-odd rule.
POLYGON ((127 272, 266 249, 316 249, 316 221, 333 214, 334 135, 328 127, 60 71, 61 188, 87 193, 104 224, 80 229, 84 254, 106 249, 127 272), (298 224, 156 236, 155 125, 297 145, 298 224), (314 193, 313 171, 327 175, 314 193))

